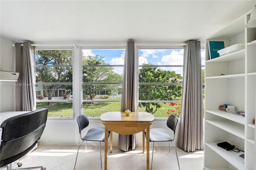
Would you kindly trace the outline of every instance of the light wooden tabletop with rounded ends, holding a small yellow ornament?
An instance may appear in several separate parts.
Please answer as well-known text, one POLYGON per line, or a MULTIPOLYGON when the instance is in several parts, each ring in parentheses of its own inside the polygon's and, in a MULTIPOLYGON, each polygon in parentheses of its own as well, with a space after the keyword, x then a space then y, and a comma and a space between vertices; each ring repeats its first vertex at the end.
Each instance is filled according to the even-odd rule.
POLYGON ((130 116, 126 116, 124 112, 106 112, 100 116, 102 122, 153 122, 154 115, 148 112, 131 112, 130 116))

